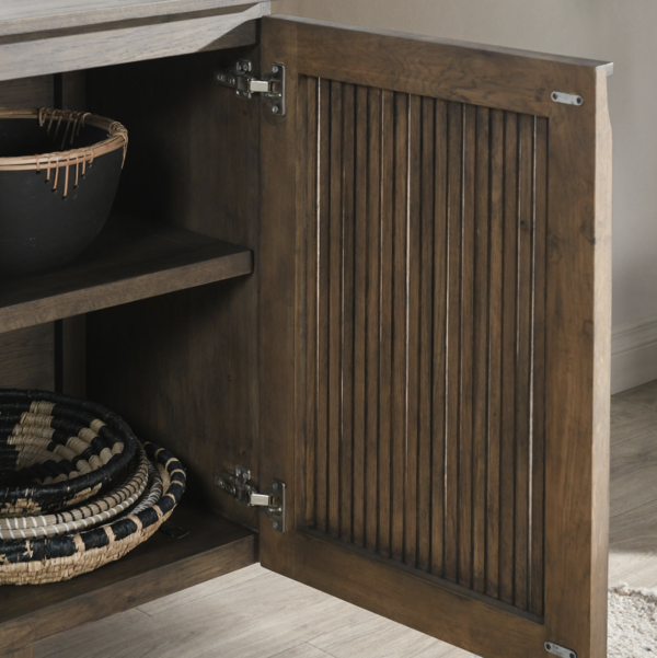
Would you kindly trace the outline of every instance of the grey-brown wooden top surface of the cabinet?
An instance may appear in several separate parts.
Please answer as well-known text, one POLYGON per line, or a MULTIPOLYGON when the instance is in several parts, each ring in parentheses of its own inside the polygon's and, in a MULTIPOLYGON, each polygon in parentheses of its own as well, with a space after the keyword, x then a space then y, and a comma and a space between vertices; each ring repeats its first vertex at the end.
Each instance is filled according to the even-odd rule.
POLYGON ((258 0, 2 0, 0 36, 257 3, 258 0))

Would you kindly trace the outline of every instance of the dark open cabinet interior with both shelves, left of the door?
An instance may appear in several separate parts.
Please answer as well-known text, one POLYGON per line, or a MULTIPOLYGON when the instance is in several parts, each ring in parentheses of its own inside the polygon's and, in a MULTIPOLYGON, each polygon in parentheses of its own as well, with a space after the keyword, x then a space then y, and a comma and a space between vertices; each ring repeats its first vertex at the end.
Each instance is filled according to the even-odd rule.
POLYGON ((257 517, 215 485, 216 472, 256 458, 257 286, 249 275, 260 113, 215 81, 217 68, 254 56, 228 49, 56 82, 62 106, 126 125, 126 164, 108 223, 84 255, 0 284, 0 326, 46 342, 56 334, 58 388, 116 411, 181 460, 188 488, 171 522, 189 534, 157 533, 67 582, 3 587, 0 654, 66 630, 67 619, 101 619, 257 559, 257 517))

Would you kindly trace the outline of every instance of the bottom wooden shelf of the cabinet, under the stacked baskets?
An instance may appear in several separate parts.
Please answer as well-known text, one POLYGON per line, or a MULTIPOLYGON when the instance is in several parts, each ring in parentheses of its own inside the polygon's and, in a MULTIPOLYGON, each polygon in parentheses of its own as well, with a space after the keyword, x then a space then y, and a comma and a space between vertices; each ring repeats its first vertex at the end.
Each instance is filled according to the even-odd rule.
POLYGON ((123 559, 66 582, 0 588, 0 655, 117 614, 254 564, 255 533, 184 505, 171 522, 176 540, 157 532, 123 559))

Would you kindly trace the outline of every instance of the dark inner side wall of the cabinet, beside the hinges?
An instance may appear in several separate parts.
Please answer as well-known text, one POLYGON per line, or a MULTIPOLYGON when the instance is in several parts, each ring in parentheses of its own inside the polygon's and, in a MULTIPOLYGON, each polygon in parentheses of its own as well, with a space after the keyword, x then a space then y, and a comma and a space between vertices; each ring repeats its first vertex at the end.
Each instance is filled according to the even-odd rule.
MULTIPOLYGON (((88 74, 88 100, 130 126, 119 208, 166 232, 194 231, 257 253, 258 103, 242 102, 212 77, 239 57, 255 59, 257 50, 99 69, 88 74)), ((253 267, 257 273, 257 261, 253 267)), ((90 397, 180 457, 191 473, 187 499, 255 528, 257 511, 214 478, 235 463, 258 475, 257 300, 257 276, 239 277, 88 322, 90 397)))

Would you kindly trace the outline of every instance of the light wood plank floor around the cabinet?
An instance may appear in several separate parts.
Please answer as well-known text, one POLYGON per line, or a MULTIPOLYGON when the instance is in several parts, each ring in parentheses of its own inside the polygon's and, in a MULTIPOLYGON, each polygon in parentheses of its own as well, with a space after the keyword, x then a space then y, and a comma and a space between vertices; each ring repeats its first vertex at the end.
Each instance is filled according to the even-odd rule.
MULTIPOLYGON (((611 403, 610 582, 657 588, 657 381, 611 403)), ((38 658, 465 658, 252 566, 43 643, 38 658)))

